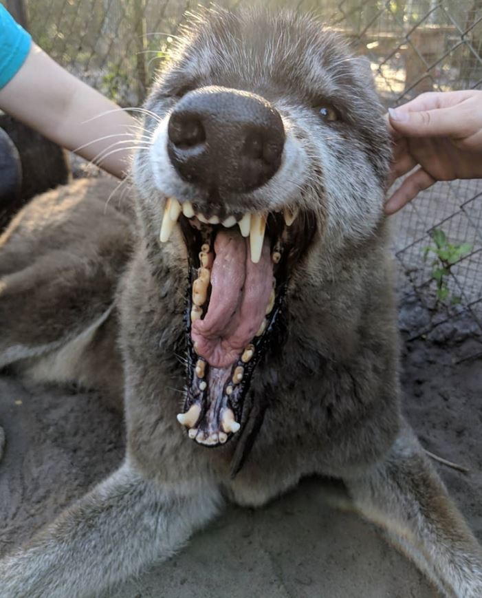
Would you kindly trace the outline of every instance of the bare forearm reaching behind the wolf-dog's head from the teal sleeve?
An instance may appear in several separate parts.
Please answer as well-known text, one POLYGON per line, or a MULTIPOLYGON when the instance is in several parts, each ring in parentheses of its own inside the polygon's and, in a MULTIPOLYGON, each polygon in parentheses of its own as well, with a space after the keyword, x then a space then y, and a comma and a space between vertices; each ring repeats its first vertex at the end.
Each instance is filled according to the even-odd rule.
POLYGON ((20 70, 0 89, 0 109, 109 173, 124 176, 137 121, 34 43, 20 70))

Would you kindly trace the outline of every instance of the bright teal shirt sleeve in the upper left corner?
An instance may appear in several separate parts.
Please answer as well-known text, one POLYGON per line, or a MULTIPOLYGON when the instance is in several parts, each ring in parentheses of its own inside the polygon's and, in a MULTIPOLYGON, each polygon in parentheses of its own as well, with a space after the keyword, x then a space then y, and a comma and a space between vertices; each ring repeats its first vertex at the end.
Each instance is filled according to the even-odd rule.
POLYGON ((0 4, 0 89, 7 85, 25 62, 32 38, 0 4))

